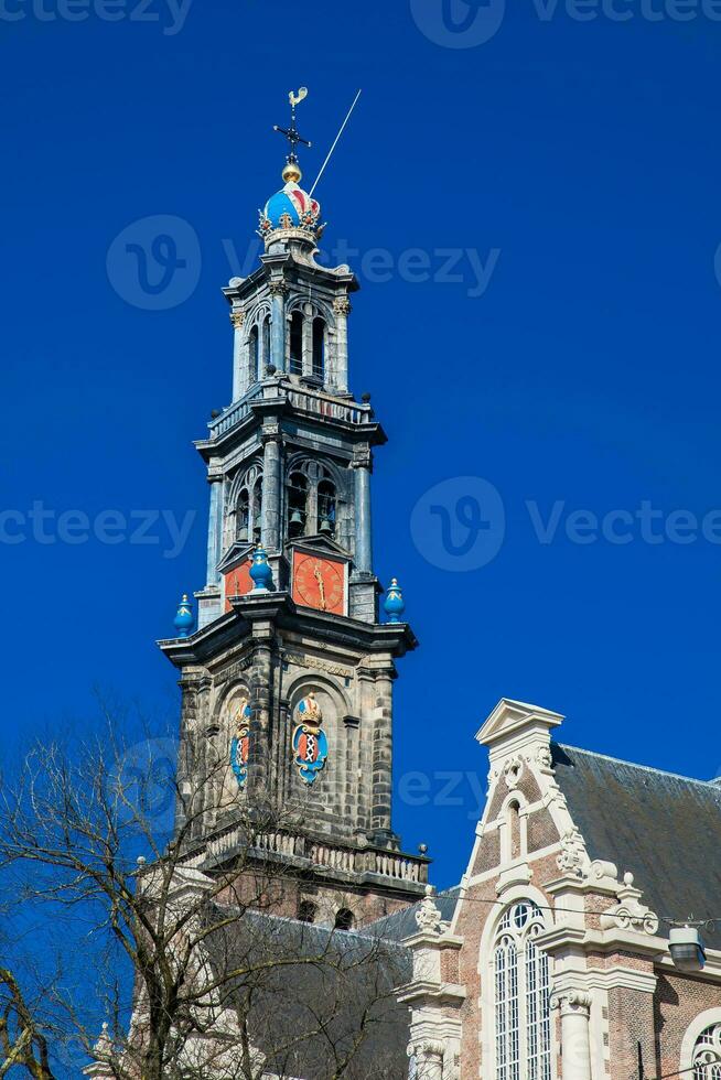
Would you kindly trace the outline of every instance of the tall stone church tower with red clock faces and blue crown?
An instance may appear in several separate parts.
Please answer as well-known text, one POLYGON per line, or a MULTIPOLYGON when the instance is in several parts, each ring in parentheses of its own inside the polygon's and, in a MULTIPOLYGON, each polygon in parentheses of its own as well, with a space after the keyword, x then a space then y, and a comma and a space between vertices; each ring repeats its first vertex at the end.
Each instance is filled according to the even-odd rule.
POLYGON ((160 647, 181 672, 180 790, 202 803, 193 845, 208 864, 229 858, 234 816, 269 800, 298 822, 268 838, 278 858, 324 909, 342 893, 363 922, 427 882, 428 860, 403 853, 391 824, 395 662, 417 641, 395 582, 379 615, 370 483, 386 435, 348 388, 358 282, 347 266, 315 261, 321 207, 300 186, 297 155, 304 96, 291 94, 260 264, 223 290, 233 401, 196 443, 209 485, 197 629, 181 615, 186 636, 160 647))

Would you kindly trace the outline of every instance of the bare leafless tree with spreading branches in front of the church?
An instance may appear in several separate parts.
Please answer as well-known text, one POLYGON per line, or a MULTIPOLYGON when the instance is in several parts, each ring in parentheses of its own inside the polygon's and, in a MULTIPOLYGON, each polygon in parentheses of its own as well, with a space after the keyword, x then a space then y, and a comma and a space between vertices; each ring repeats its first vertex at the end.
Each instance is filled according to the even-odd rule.
MULTIPOLYGON (((43 744, 0 796, 0 905, 11 921, 28 910, 52 920, 61 953, 82 942, 74 979, 49 984, 41 970, 23 986, 18 969, 0 969, 0 1077, 77 1077, 77 1058, 55 1063, 71 1041, 117 1080, 406 1076, 405 953, 286 917, 300 878, 266 842, 290 830, 286 811, 218 806, 240 842, 211 864, 194 840, 200 792, 184 785, 165 842, 158 797, 181 803, 173 770, 165 762, 159 781, 128 759, 112 734, 73 753, 43 744)), ((30 935, 31 960, 32 948, 30 935)))

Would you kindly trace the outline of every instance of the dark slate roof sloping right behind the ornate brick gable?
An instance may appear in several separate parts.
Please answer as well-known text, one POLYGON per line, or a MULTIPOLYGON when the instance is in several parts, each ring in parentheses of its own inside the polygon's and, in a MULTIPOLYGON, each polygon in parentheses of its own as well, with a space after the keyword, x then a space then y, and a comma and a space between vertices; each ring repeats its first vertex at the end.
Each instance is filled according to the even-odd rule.
MULTIPOLYGON (((591 858, 634 875, 658 916, 721 918, 721 784, 552 744, 556 779, 591 858)), ((660 933, 668 928, 661 924, 660 933)), ((721 921, 702 931, 721 949, 721 921)))

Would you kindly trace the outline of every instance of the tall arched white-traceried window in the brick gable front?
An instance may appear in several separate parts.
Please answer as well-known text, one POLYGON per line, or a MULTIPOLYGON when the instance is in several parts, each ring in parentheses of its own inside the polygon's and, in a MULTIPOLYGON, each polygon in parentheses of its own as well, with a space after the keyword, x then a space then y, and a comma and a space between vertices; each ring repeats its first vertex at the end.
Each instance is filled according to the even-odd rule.
POLYGON ((550 972, 535 943, 542 929, 539 908, 521 900, 504 911, 496 930, 496 1080, 551 1080, 550 972))

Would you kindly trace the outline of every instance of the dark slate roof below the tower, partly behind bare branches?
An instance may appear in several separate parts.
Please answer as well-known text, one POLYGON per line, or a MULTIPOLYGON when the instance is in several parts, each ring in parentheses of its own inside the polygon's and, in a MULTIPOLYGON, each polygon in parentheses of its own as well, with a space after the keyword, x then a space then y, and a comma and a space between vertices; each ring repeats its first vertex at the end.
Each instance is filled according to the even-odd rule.
POLYGON ((365 928, 330 930, 255 911, 215 929, 229 911, 208 909, 208 958, 218 973, 257 969, 224 997, 226 1007, 248 1012, 269 1072, 325 1080, 363 1032, 343 1076, 407 1078, 410 1012, 394 992, 412 973, 407 949, 365 928))

